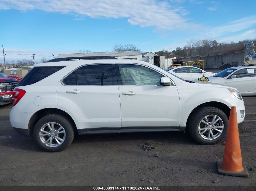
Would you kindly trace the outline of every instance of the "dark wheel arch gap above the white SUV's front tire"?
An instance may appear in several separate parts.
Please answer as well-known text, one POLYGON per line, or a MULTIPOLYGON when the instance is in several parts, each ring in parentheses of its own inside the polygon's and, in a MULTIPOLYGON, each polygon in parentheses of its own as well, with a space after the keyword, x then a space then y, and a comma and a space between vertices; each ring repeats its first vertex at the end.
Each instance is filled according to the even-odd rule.
MULTIPOLYGON (((206 102, 206 103, 202 103, 202 104, 198 105, 197 107, 195 107, 195 108, 190 112, 190 114, 189 114, 189 116, 188 116, 188 119, 187 119, 187 122, 186 122, 186 128, 185 128, 185 130, 186 130, 187 127, 188 127, 188 121, 189 121, 189 119, 190 119, 192 113, 193 113, 194 111, 198 110, 199 108, 202 108, 202 107, 216 107, 216 108, 222 110, 222 111, 226 114, 226 116, 228 117, 228 119, 229 119, 230 108, 229 108, 226 104, 221 103, 221 102, 217 102, 217 101, 210 101, 210 102, 206 102)), ((184 130, 184 132, 185 132, 185 130, 184 130)))

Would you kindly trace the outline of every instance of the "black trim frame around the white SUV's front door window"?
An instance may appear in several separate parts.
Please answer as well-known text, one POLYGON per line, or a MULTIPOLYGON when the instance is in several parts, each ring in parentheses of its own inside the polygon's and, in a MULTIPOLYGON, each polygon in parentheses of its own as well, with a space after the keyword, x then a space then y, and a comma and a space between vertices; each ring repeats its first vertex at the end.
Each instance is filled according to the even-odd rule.
POLYGON ((160 73, 161 75, 163 75, 164 77, 167 77, 171 80, 171 86, 175 86, 174 81, 168 77, 167 75, 163 74, 162 72, 159 72, 158 70, 155 70, 154 68, 148 67, 147 65, 143 65, 143 64, 138 64, 138 63, 115 63, 115 68, 116 68, 116 74, 117 74, 117 80, 118 80, 118 86, 163 86, 163 85, 123 85, 123 81, 121 79, 121 73, 119 70, 119 64, 130 64, 130 65, 140 65, 140 66, 144 66, 146 68, 149 68, 151 70, 154 70, 155 72, 160 73))

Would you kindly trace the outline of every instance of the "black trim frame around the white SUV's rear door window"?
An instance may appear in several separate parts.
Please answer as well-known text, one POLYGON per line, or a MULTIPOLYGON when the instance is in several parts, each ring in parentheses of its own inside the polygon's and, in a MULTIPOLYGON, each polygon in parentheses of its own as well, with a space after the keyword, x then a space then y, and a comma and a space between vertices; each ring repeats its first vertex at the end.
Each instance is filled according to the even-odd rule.
MULTIPOLYGON (((77 78, 76 78, 77 80, 77 78)), ((78 66, 77 68, 73 69, 71 72, 69 72, 67 75, 65 75, 61 80, 60 80, 61 84, 64 85, 64 86, 117 86, 118 85, 118 82, 117 82, 117 76, 116 76, 116 72, 115 72, 115 63, 94 63, 94 64, 84 64, 84 65, 81 65, 81 66, 78 66), (95 85, 95 84, 92 84, 92 85, 78 85, 78 84, 75 84, 75 85, 67 85, 63 82, 63 80, 68 76, 70 75, 72 72, 74 72, 75 70, 77 70, 78 68, 81 68, 83 66, 88 66, 88 65, 105 65, 105 64, 108 64, 108 65, 112 65, 112 71, 113 71, 113 85, 95 85)))

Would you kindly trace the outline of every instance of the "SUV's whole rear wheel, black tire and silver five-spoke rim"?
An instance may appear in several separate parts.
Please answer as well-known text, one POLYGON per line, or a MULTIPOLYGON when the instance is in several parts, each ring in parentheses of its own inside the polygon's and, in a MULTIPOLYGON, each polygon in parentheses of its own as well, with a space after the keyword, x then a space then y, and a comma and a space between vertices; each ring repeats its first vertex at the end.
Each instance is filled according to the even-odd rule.
POLYGON ((74 139, 74 130, 71 124, 69 119, 59 114, 44 116, 35 125, 34 140, 44 151, 62 151, 74 139))

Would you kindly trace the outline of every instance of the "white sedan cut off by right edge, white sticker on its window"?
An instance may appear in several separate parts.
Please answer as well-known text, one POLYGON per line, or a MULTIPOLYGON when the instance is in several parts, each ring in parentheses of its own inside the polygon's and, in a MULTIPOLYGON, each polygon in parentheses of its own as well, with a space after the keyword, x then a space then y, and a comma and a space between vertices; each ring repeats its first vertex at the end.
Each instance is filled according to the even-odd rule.
POLYGON ((241 95, 256 95, 256 66, 225 69, 210 77, 209 82, 236 88, 241 95))

